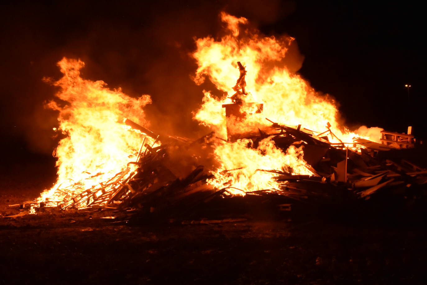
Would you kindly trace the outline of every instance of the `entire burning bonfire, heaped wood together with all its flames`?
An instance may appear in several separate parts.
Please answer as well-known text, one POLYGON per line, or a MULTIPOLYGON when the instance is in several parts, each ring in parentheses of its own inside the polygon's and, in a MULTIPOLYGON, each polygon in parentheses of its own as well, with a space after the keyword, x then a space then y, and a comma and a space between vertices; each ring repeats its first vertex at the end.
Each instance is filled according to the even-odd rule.
POLYGON ((67 136, 56 150, 58 181, 27 203, 33 211, 102 206, 172 217, 236 196, 269 197, 290 209, 292 203, 367 199, 383 190, 422 195, 426 169, 378 159, 378 153, 413 147, 412 135, 365 126, 349 131, 337 122, 333 100, 279 66, 292 38, 241 33, 245 18, 221 16, 225 35, 198 39, 193 55, 199 65, 194 81, 208 76, 224 91, 221 98, 205 91, 193 115, 213 132, 197 140, 149 130, 142 113, 148 95, 133 99, 82 79, 81 61, 58 63, 64 77, 53 85, 65 103, 48 106, 59 112, 67 136))

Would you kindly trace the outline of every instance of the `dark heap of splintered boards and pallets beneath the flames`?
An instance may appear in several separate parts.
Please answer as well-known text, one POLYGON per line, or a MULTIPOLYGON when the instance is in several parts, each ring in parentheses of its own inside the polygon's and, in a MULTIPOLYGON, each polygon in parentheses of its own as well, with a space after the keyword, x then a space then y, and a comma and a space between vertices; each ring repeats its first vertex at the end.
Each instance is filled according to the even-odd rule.
MULTIPOLYGON (((282 198, 286 197, 290 203, 324 203, 326 200, 343 202, 366 199, 383 189, 388 189, 382 192, 386 195, 392 193, 404 195, 408 191, 421 193, 420 185, 427 183, 427 169, 407 159, 396 160, 380 156, 381 153, 387 153, 389 145, 355 139, 350 143, 352 147, 348 148, 349 143, 339 140, 340 143, 333 144, 327 137, 322 137, 326 133, 334 136, 329 125, 326 126, 325 132, 316 135, 316 132, 301 125, 283 126, 269 121, 272 123, 270 128, 272 132, 259 130, 255 135, 242 138, 249 138, 255 144, 270 137, 275 145, 284 151, 290 145, 302 146, 303 158, 308 163, 306 167, 313 175, 292 175, 280 170, 258 169, 257 171, 272 173, 281 187, 258 191, 239 189, 247 196, 272 197, 271 195, 275 194, 282 198)), ((57 191, 64 194, 63 200, 47 199, 39 206, 57 206, 63 210, 102 206, 121 211, 137 209, 151 214, 169 215, 200 207, 216 197, 233 196, 229 191, 234 188, 233 185, 224 185, 223 188, 217 189, 208 183, 208 179, 212 178, 210 171, 212 169, 200 165, 200 161, 193 155, 202 153, 201 150, 205 150, 211 143, 209 140, 216 139, 216 143, 222 142, 223 139, 215 138, 213 132, 198 140, 190 140, 172 136, 160 137, 130 120, 126 120, 126 124, 140 129, 156 141, 160 140, 162 144, 153 147, 154 144, 146 144, 144 140, 136 161, 129 162, 127 168, 116 173, 108 181, 89 189, 82 189, 81 193, 74 196, 67 194, 67 189, 79 189, 81 187, 79 183, 58 188, 57 191), (135 167, 130 167, 131 165, 135 167)), ((383 132, 383 134, 391 133, 383 132)), ((403 137, 404 135, 401 136, 403 137)), ((224 170, 222 175, 240 169, 241 167, 224 170)), ((292 204, 284 203, 283 200, 280 203, 278 206, 281 211, 290 211, 292 204)), ((27 207, 34 204, 35 202, 26 202, 27 207)), ((20 204, 10 205, 10 207, 18 206, 25 207, 20 204)))

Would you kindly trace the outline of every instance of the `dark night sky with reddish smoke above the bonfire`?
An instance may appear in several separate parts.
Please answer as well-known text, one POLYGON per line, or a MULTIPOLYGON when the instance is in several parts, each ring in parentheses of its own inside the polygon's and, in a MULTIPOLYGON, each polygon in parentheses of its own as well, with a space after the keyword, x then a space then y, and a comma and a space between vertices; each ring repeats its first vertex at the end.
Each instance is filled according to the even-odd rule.
POLYGON ((348 125, 405 132, 411 124, 416 136, 427 137, 423 9, 415 1, 14 1, 0 9, 6 153, 47 156, 55 147, 56 116, 43 108, 54 89, 41 79, 59 78, 56 62, 63 56, 81 58, 85 78, 131 96, 150 94, 148 118, 161 118, 153 129, 204 134, 190 112, 212 86, 191 81, 196 64, 188 54, 193 37, 217 34, 222 9, 267 35, 296 38, 304 56, 299 73, 336 97, 348 125), (410 112, 406 83, 412 85, 410 112))

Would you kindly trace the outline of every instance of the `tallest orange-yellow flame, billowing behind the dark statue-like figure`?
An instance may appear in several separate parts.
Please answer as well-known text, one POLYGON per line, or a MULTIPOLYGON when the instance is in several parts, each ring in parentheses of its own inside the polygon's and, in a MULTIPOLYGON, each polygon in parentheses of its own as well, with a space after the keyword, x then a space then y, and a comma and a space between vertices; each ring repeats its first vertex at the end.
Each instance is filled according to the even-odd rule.
MULTIPOLYGON (((263 113, 246 118, 246 125, 270 123, 269 118, 279 124, 302 124, 307 129, 321 133, 329 122, 333 133, 344 142, 354 137, 363 137, 379 142, 380 128, 360 128, 350 132, 337 122, 338 110, 334 101, 322 97, 298 74, 286 67, 278 67, 285 58, 294 38, 282 36, 266 37, 257 30, 240 27, 247 23, 245 18, 235 18, 225 12, 222 21, 227 24, 225 35, 219 40, 213 37, 196 40, 197 50, 193 54, 199 65, 194 81, 201 84, 205 76, 221 91, 231 96, 237 79, 237 62, 242 62, 248 71, 246 75, 248 96, 246 102, 264 103, 263 113)), ((210 126, 225 136, 225 111, 222 104, 231 103, 228 97, 216 99, 205 92, 202 107, 195 113, 195 119, 210 126)), ((331 141, 338 142, 335 136, 331 141)))

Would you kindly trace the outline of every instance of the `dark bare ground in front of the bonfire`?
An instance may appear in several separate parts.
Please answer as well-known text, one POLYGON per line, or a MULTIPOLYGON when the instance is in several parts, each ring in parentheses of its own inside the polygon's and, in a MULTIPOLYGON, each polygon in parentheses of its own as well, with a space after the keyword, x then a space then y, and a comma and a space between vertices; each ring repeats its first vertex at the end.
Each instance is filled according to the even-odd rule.
MULTIPOLYGON (((52 182, 7 175, 0 188, 0 284, 425 284, 423 224, 286 215, 233 223, 111 223, 111 213, 16 218, 8 204, 52 182)), ((366 219, 366 217, 364 217, 366 219)))

